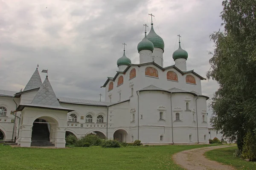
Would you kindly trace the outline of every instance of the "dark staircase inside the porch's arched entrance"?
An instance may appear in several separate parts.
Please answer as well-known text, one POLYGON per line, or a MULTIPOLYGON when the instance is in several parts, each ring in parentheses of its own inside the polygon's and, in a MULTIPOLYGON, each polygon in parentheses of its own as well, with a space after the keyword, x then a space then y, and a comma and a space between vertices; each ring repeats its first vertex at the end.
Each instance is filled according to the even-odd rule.
POLYGON ((46 123, 34 123, 32 127, 31 146, 54 146, 49 139, 49 130, 46 123))

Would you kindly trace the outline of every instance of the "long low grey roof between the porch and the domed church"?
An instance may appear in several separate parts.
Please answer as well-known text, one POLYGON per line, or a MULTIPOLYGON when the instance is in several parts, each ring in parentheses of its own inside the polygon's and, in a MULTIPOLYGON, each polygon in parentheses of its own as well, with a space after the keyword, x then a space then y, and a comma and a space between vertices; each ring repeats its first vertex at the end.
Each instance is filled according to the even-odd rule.
POLYGON ((97 106, 107 106, 113 103, 110 102, 99 102, 94 100, 86 100, 86 99, 73 99, 67 97, 58 97, 59 102, 61 103, 70 103, 70 104, 77 104, 77 105, 97 105, 97 106))

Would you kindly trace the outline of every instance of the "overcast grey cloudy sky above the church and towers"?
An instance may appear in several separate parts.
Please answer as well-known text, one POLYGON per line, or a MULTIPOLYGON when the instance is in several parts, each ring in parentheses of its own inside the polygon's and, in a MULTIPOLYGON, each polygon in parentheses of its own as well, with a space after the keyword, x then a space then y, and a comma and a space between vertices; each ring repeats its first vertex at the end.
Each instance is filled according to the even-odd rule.
MULTIPOLYGON (((150 25, 149 13, 165 42, 164 66, 175 63, 172 53, 180 34, 189 53, 187 69, 206 77, 213 50, 209 35, 220 28, 221 2, 0 0, 0 89, 24 88, 39 64, 40 72, 49 70, 57 96, 99 100, 100 86, 118 69, 123 42, 132 63, 139 63, 137 44, 143 24, 150 25)), ((202 81, 204 95, 212 97, 217 88, 216 82, 202 81)))

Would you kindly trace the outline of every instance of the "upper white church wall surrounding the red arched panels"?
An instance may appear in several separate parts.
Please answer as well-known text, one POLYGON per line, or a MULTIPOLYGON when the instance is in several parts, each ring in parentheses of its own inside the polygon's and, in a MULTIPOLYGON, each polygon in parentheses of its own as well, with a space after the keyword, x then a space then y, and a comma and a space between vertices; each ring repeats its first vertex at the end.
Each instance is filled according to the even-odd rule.
POLYGON ((105 102, 110 102, 109 96, 111 95, 111 102, 119 101, 119 93, 121 93, 121 101, 125 99, 129 99, 131 96, 131 85, 134 88, 134 94, 139 89, 145 88, 149 85, 154 85, 164 90, 169 90, 171 88, 179 88, 185 91, 196 91, 199 94, 201 91, 201 79, 196 77, 193 74, 185 74, 182 75, 175 68, 169 68, 165 71, 162 71, 160 68, 157 68, 154 65, 143 65, 141 67, 132 66, 125 74, 119 74, 118 77, 113 82, 113 89, 108 91, 108 85, 111 81, 108 82, 105 88, 105 102), (145 76, 145 68, 154 67, 158 71, 158 77, 147 77, 145 76), (130 71, 132 68, 136 69, 136 77, 130 79, 130 71), (178 76, 178 82, 167 80, 166 74, 168 71, 174 71, 178 76), (119 76, 124 77, 124 82, 122 85, 117 87, 117 81, 119 76), (195 77, 196 85, 186 83, 186 75, 192 75, 195 77))

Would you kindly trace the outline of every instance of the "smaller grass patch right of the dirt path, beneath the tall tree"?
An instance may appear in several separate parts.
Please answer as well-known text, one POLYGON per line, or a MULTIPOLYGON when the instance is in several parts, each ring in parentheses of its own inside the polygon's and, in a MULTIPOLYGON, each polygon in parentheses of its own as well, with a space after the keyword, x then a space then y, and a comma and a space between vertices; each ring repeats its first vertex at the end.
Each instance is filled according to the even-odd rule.
POLYGON ((238 170, 256 170, 256 162, 244 161, 241 158, 233 156, 237 147, 226 147, 221 149, 210 150, 204 155, 213 161, 231 165, 238 170))

